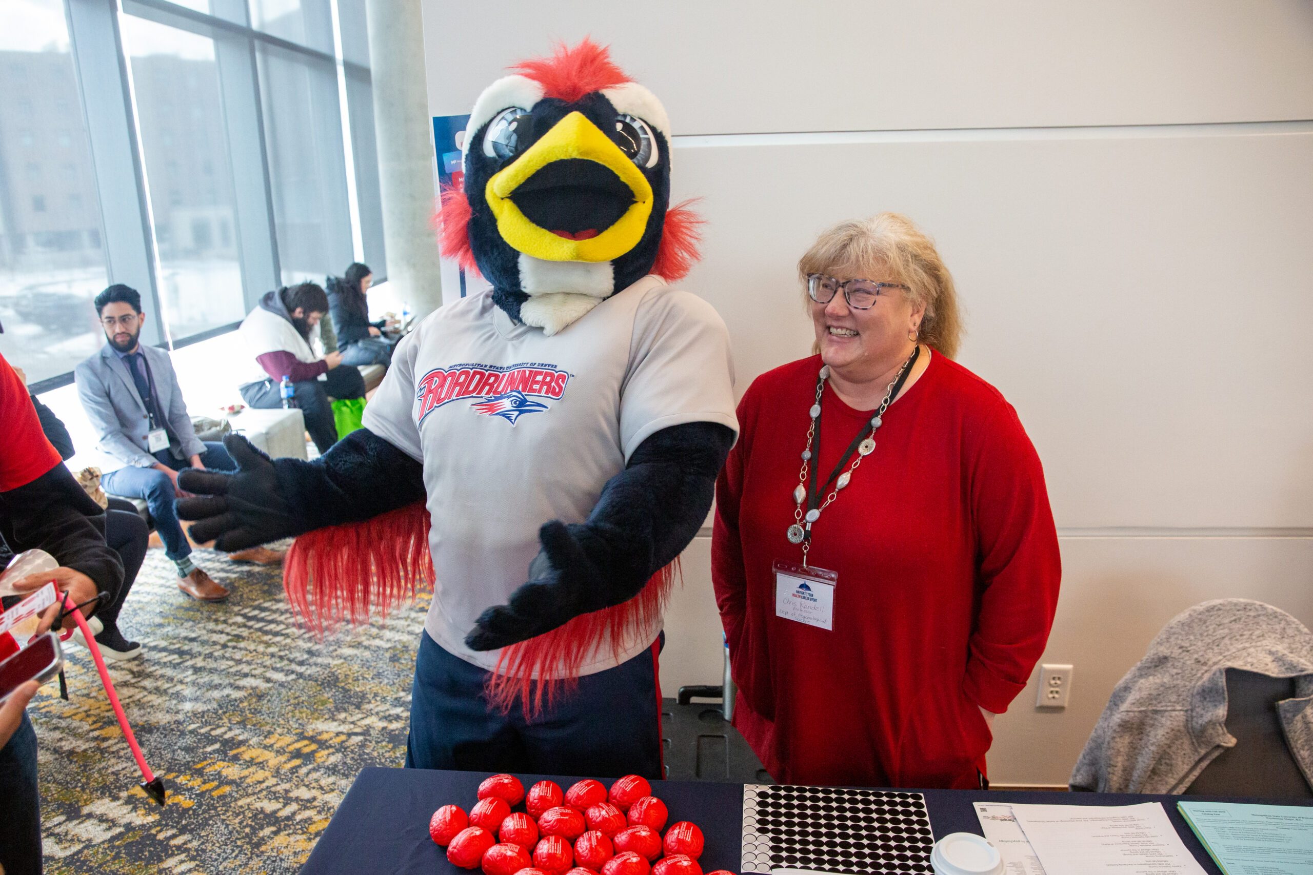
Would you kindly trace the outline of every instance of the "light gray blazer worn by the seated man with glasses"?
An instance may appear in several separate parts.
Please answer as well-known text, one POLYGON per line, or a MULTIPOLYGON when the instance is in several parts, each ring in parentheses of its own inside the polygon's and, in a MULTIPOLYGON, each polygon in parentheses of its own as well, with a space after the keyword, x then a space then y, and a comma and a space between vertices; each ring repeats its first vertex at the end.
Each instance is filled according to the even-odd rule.
MULTIPOLYGON (((172 443, 188 458, 205 453, 205 443, 196 437, 192 417, 186 415, 183 390, 173 373, 173 362, 168 352, 156 346, 140 346, 155 380, 155 394, 160 408, 168 418, 168 428, 176 436, 172 443)), ((105 344, 100 352, 83 361, 74 370, 77 383, 77 399, 87 411, 87 418, 100 434, 96 449, 100 450, 104 471, 117 471, 125 467, 148 468, 156 463, 146 447, 151 430, 146 403, 137 392, 137 383, 127 365, 105 344)))

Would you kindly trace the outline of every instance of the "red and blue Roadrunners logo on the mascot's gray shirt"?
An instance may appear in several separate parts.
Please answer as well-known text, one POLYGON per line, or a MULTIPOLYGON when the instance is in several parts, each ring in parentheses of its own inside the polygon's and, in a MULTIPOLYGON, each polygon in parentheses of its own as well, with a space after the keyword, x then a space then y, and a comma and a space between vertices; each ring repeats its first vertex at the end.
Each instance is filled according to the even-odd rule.
POLYGON ((570 374, 555 365, 521 362, 508 367, 495 365, 453 365, 424 374, 415 390, 415 421, 452 401, 473 400, 470 409, 479 416, 498 416, 511 425, 525 413, 538 413, 566 394, 570 374))

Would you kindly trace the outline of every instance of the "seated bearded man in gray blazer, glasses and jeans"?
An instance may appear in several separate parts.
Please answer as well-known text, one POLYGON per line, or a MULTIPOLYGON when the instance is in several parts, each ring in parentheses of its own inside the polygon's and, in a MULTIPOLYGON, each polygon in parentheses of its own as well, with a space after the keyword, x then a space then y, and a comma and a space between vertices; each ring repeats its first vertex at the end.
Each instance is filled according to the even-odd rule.
MULTIPOLYGON (((179 589, 200 601, 223 601, 227 588, 192 561, 192 546, 177 522, 173 500, 183 495, 179 470, 231 471, 236 464, 222 443, 196 437, 168 353, 138 342, 143 314, 137 290, 114 285, 96 295, 95 303, 106 342, 77 365, 74 378, 87 418, 100 434, 96 447, 105 457, 101 485, 110 495, 146 500, 164 555, 177 565, 179 589)), ((281 561, 269 550, 232 558, 281 561)))

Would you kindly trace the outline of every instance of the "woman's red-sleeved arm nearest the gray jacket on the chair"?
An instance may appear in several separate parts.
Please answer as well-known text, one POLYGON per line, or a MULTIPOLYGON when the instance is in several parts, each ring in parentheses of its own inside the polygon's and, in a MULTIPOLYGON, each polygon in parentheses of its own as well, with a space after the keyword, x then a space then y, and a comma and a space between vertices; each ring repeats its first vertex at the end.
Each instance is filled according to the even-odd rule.
POLYGON ((981 588, 964 691, 1007 710, 1044 653, 1062 564, 1044 470, 1011 407, 981 424, 972 459, 972 514, 981 588))

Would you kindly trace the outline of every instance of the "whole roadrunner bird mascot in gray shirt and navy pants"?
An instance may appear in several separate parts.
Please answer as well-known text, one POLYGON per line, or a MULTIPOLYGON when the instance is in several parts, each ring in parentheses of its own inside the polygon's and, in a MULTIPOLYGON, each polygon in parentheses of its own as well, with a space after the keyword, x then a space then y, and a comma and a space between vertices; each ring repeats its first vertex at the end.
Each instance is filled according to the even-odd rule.
POLYGON ((492 83, 442 193, 445 254, 491 291, 397 348, 365 428, 314 462, 243 438, 186 471, 192 535, 297 535, 315 628, 433 588, 406 762, 659 777, 662 614, 734 442, 723 321, 672 289, 696 258, 670 207, 660 102, 590 41, 492 83))

